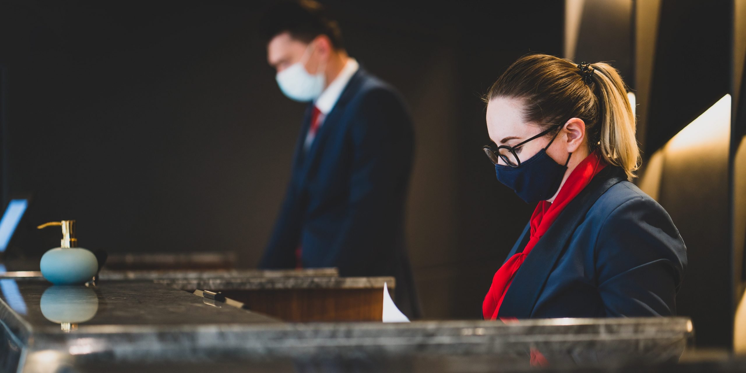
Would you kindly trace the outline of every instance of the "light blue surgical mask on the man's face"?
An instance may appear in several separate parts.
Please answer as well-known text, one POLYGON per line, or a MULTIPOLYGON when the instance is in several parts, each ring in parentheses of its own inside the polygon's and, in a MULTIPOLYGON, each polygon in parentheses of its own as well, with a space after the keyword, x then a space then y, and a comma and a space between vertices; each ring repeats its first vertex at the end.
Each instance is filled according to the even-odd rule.
POLYGON ((316 69, 316 74, 310 74, 305 68, 310 57, 310 52, 313 51, 311 46, 312 44, 309 44, 306 47, 301 60, 293 63, 287 69, 278 72, 278 75, 275 77, 282 93, 293 101, 313 101, 324 92, 326 84, 326 75, 324 73, 326 61, 322 61, 323 64, 319 65, 319 68, 316 69))

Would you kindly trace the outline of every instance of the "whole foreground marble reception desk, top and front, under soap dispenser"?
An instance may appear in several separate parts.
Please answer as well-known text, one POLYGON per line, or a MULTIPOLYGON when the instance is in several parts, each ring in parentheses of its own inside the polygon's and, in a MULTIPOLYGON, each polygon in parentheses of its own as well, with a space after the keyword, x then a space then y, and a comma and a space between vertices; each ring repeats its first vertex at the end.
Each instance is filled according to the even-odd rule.
POLYGON ((618 367, 674 362, 692 335, 686 318, 290 323, 152 281, 3 281, 16 286, 0 297, 4 372, 618 367))

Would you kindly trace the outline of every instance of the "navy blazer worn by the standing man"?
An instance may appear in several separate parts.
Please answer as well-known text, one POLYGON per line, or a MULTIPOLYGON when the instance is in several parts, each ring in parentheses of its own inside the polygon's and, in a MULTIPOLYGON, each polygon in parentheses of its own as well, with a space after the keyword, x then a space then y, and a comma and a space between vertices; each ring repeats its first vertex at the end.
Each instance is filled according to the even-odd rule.
POLYGON ((310 148, 310 104, 265 269, 337 267, 342 276, 394 276, 402 312, 419 316, 404 248, 404 203, 414 134, 400 95, 359 69, 310 148))

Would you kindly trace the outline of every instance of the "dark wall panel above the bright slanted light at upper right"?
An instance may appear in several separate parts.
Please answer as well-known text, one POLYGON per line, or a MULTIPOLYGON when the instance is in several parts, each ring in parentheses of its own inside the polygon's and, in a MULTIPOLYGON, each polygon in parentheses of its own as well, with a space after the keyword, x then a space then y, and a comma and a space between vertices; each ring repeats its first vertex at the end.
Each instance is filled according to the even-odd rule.
POLYGON ((647 153, 730 93, 732 14, 733 1, 661 1, 647 153))

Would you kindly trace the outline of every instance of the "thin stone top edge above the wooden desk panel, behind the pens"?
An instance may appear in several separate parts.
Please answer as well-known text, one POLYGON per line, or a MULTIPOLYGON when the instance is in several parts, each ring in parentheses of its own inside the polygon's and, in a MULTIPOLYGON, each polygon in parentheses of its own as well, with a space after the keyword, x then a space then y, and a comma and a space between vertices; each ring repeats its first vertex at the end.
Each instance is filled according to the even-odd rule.
POLYGON ((371 278, 333 278, 333 277, 298 277, 298 278, 210 278, 204 280, 191 279, 161 279, 155 283, 175 286, 178 289, 210 290, 261 290, 261 289, 383 289, 387 283, 389 288, 396 287, 396 280, 392 277, 371 278))

